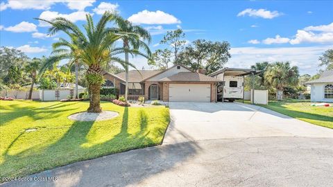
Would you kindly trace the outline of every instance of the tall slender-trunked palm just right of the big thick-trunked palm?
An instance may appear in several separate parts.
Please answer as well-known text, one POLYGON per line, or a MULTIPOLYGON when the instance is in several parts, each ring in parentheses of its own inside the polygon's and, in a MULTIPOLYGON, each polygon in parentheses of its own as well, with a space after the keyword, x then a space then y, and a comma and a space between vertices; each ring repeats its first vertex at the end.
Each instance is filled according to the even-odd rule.
POLYGON ((128 51, 136 51, 136 54, 142 55, 146 58, 151 58, 151 50, 149 49, 148 45, 145 43, 151 42, 151 34, 144 29, 142 26, 135 26, 130 23, 130 21, 123 19, 122 17, 117 16, 115 19, 115 23, 117 24, 116 30, 114 32, 121 37, 123 41, 123 48, 126 48, 125 51, 125 69, 126 74, 126 88, 125 88, 125 99, 127 100, 128 96, 128 51), (139 49, 144 50, 145 53, 140 53, 139 49))

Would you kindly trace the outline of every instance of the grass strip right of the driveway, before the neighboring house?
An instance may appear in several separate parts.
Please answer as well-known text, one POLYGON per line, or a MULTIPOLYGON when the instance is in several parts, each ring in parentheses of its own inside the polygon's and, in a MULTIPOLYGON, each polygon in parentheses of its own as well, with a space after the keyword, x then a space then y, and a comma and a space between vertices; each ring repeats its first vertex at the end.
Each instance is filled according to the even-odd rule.
MULTIPOLYGON (((244 101, 244 103, 250 102, 244 101)), ((270 101, 268 105, 260 106, 314 125, 333 129, 333 107, 312 107, 309 100, 270 101)))

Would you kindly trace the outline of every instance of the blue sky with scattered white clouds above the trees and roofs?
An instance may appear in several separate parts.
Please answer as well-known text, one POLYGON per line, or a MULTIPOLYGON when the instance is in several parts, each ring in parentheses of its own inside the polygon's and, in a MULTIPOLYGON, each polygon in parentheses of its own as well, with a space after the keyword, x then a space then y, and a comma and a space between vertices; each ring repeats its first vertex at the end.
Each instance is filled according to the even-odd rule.
MULTIPOLYGON (((228 41, 232 54, 227 66, 248 68, 255 62, 286 61, 300 73, 314 74, 318 57, 333 48, 333 1, 3 1, 0 4, 0 43, 29 57, 50 55, 58 37, 46 35, 47 25, 33 19, 64 16, 78 25, 85 14, 95 20, 104 10, 117 10, 153 37, 151 50, 167 30, 182 28, 188 42, 195 39, 228 41)), ((138 68, 149 69, 135 57, 138 68)))

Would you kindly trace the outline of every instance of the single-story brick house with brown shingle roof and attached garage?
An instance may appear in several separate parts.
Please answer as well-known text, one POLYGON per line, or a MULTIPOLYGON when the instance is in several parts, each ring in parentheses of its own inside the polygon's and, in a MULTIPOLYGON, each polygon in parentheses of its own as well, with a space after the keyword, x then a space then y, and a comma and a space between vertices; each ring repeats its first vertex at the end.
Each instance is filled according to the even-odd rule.
MULTIPOLYGON (((216 86, 221 80, 198 72, 180 64, 164 71, 128 71, 128 99, 144 96, 146 100, 165 102, 216 102, 216 86)), ((103 72, 103 76, 105 86, 119 89, 120 96, 125 94, 125 72, 103 72)))

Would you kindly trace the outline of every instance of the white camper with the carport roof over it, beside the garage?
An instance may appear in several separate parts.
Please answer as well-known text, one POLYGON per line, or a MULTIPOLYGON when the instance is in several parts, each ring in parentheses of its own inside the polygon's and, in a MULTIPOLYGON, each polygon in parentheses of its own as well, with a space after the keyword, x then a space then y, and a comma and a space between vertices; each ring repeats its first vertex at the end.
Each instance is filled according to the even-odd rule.
POLYGON ((217 86, 217 100, 234 102, 244 99, 244 76, 259 73, 253 69, 224 68, 211 73, 210 76, 221 80, 217 86))

